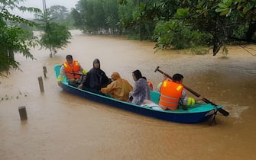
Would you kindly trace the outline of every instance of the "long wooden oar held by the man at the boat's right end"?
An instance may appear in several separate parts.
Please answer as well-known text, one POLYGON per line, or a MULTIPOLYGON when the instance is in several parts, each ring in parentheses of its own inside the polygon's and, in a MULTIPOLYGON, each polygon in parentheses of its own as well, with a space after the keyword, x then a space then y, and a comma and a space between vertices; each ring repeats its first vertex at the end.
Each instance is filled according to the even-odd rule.
MULTIPOLYGON (((173 79, 170 75, 168 75, 167 73, 161 71, 161 70, 159 69, 159 66, 157 66, 157 69, 154 70, 154 72, 157 72, 157 71, 160 72, 160 73, 162 73, 163 75, 167 76, 168 78, 173 79)), ((199 97, 201 96, 200 94, 196 93, 196 91, 193 91, 191 88, 187 87, 186 85, 183 85, 183 87, 184 87, 187 91, 190 91, 190 93, 196 95, 196 97, 199 98, 199 97)), ((206 102, 207 104, 212 104, 212 105, 214 105, 214 106, 217 106, 217 105, 214 104, 212 101, 209 101, 209 100, 206 99, 206 98, 203 98, 202 101, 206 102)), ((224 116, 228 116, 228 115, 229 115, 228 111, 226 111, 226 110, 224 110, 224 109, 222 109, 222 108, 217 108, 217 110, 218 110, 221 114, 223 114, 224 116)))

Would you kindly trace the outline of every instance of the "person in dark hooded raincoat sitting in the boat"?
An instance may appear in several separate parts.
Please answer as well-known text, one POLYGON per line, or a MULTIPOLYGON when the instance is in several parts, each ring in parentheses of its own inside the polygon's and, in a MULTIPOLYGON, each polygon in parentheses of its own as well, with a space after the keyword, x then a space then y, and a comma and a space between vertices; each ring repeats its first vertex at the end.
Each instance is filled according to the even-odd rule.
POLYGON ((85 81, 83 81, 78 88, 86 91, 92 91, 97 94, 102 94, 100 89, 105 88, 111 82, 112 80, 105 75, 105 72, 102 71, 102 69, 100 69, 99 59, 94 59, 92 69, 86 73, 85 81))

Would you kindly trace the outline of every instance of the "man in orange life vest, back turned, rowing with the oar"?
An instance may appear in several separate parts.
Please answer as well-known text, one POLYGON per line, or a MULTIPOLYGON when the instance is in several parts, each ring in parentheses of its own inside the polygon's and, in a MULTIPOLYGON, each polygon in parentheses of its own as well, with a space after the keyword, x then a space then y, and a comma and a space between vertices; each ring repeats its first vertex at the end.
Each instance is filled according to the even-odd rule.
POLYGON ((160 86, 159 106, 164 110, 177 110, 179 103, 192 106, 195 101, 200 101, 203 98, 189 98, 186 96, 186 91, 183 89, 183 75, 174 74, 173 81, 165 77, 165 80, 160 86))

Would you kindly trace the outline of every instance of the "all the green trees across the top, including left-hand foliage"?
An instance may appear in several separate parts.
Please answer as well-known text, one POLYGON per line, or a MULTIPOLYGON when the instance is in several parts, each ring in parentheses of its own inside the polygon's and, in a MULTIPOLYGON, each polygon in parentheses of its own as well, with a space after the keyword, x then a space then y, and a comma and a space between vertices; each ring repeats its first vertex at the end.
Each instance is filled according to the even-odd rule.
POLYGON ((0 1, 0 77, 19 69, 15 53, 34 59, 30 48, 38 44, 50 56, 66 47, 73 27, 87 34, 152 40, 156 49, 212 46, 213 55, 221 48, 226 52, 226 44, 256 43, 256 1, 251 0, 79 0, 71 12, 60 5, 42 12, 19 2, 23 0, 0 1), (13 8, 35 13, 37 20, 11 14, 13 8), (31 27, 41 27, 41 39, 31 27))

